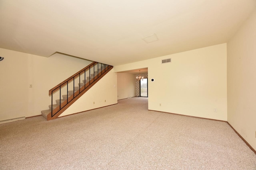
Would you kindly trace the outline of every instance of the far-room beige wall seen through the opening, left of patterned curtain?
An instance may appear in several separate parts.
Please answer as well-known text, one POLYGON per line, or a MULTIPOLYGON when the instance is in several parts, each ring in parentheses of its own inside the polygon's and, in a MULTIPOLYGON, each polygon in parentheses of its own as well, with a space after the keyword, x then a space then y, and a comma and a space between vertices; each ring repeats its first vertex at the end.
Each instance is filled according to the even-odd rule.
POLYGON ((135 75, 117 73, 117 99, 126 99, 135 96, 135 75))

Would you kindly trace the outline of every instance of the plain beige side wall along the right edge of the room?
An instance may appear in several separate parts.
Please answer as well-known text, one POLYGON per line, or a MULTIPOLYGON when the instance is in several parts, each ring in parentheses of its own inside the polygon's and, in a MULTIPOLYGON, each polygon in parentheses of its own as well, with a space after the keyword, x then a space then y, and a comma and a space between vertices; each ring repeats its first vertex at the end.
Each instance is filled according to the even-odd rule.
POLYGON ((256 150, 256 11, 227 45, 228 122, 256 150))

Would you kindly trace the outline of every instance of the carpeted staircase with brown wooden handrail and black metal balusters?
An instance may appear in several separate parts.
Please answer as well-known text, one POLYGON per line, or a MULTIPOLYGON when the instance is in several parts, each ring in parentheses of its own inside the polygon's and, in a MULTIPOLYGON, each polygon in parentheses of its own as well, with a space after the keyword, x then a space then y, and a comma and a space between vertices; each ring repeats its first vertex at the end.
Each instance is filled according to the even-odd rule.
POLYGON ((42 116, 47 120, 56 119, 112 68, 107 64, 93 62, 49 90, 52 104, 48 110, 41 111, 42 116))

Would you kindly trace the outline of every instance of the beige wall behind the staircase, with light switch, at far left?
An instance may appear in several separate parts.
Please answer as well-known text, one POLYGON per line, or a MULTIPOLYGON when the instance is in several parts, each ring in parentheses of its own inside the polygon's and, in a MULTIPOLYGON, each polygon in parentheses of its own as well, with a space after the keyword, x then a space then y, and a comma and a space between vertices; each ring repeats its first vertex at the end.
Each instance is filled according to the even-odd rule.
POLYGON ((40 115, 51 104, 48 91, 91 63, 64 55, 46 58, 7 49, 0 49, 0 56, 4 57, 0 62, 0 121, 40 115))

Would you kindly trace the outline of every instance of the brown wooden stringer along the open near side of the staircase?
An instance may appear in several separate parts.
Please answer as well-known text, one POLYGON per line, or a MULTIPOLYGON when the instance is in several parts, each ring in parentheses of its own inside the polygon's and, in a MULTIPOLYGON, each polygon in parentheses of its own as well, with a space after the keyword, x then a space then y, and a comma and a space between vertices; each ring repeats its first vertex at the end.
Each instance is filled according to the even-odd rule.
MULTIPOLYGON (((106 70, 105 72, 103 72, 96 80, 94 80, 93 82, 88 82, 86 83, 86 89, 83 90, 80 94, 79 91, 75 92, 75 98, 73 99, 73 96, 70 96, 68 98, 68 101, 70 101, 67 105, 66 102, 61 103, 61 109, 59 109, 59 107, 56 107, 55 109, 52 110, 53 113, 57 113, 52 117, 52 113, 50 112, 47 115, 47 121, 48 120, 52 120, 52 119, 56 119, 60 114, 62 114, 68 107, 70 107, 74 102, 76 102, 76 100, 78 100, 78 98, 80 98, 84 93, 86 93, 90 88, 92 88, 92 86, 94 86, 94 84, 96 84, 102 77, 104 77, 110 70, 112 70, 113 66, 110 66, 110 68, 108 70, 106 70), (66 106, 65 106, 66 105, 66 106), (64 106, 64 107, 63 107, 64 106)), ((84 87, 84 86, 83 86, 84 87)), ((81 88, 83 88, 81 87, 81 88)))

